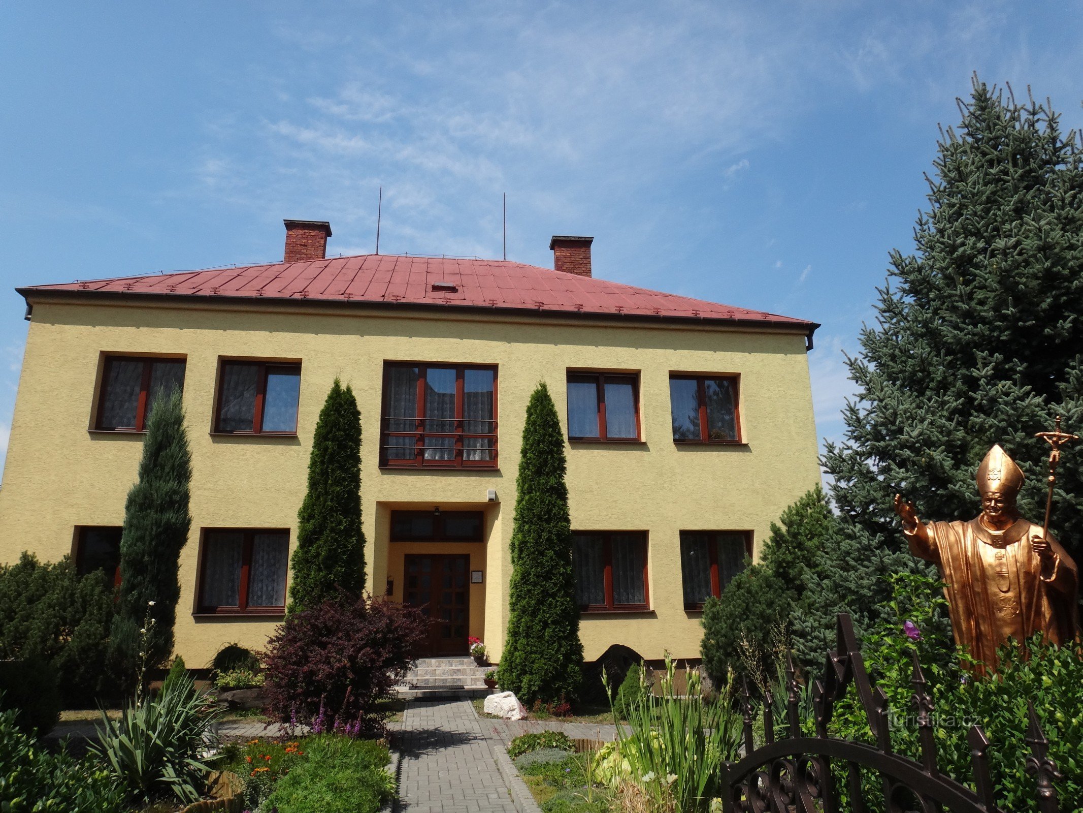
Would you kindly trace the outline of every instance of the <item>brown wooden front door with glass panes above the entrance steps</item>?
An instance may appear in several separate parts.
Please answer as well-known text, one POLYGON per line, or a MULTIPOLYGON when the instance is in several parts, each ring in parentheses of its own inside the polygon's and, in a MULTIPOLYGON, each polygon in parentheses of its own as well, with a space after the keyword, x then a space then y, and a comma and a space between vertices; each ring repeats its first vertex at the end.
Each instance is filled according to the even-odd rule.
POLYGON ((420 655, 469 655, 470 557, 466 554, 406 556, 406 604, 429 617, 428 647, 420 655))

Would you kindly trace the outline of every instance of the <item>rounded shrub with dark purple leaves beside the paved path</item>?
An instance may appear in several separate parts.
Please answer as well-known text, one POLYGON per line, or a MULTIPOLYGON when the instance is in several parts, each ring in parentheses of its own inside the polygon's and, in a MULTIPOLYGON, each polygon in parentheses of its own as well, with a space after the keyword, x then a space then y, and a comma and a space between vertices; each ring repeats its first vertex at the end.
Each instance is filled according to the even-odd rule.
POLYGON ((287 616, 268 642, 264 711, 317 734, 382 735, 376 705, 405 678, 428 632, 420 610, 373 598, 287 616))

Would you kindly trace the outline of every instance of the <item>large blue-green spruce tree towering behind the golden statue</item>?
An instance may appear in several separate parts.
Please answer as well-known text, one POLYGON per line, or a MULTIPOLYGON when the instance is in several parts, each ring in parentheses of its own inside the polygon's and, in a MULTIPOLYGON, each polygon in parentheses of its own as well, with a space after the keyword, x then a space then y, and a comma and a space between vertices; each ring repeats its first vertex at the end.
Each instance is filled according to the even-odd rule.
MULTIPOLYGON (((978 463, 1000 443, 1027 475, 1021 513, 1042 521, 1057 414, 1083 429, 1083 165, 1047 105, 974 80, 938 144, 916 253, 892 251, 877 320, 848 359, 857 399, 824 466, 843 515, 807 585, 810 627, 838 609, 877 615, 884 572, 929 572, 905 551, 891 499, 923 519, 976 516, 978 463)), ((1083 553, 1083 448, 1065 453, 1052 528, 1083 553)))

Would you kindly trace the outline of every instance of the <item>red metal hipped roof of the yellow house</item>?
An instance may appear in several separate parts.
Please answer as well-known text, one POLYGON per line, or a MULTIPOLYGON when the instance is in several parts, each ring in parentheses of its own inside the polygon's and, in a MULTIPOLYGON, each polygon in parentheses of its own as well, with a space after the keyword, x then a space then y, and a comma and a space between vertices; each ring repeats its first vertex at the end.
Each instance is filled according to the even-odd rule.
POLYGON ((493 308, 707 320, 791 326, 811 334, 801 319, 734 308, 701 299, 584 278, 506 260, 361 255, 306 262, 180 271, 17 288, 35 294, 134 294, 185 297, 264 297, 274 300, 351 301, 434 307, 493 308), (439 283, 444 283, 443 285, 439 283), (433 289, 433 286, 436 289, 433 289), (451 287, 454 286, 454 291, 451 287))

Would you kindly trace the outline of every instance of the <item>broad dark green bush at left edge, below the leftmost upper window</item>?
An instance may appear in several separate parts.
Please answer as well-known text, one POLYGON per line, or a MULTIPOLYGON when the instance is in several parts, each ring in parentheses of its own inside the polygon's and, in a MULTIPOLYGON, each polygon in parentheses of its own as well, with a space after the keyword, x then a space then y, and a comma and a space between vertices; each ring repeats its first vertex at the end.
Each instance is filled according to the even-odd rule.
POLYGON ((65 556, 24 553, 0 565, 0 660, 43 660, 64 675, 66 708, 92 708, 109 689, 106 669, 115 591, 101 572, 80 577, 65 556))

